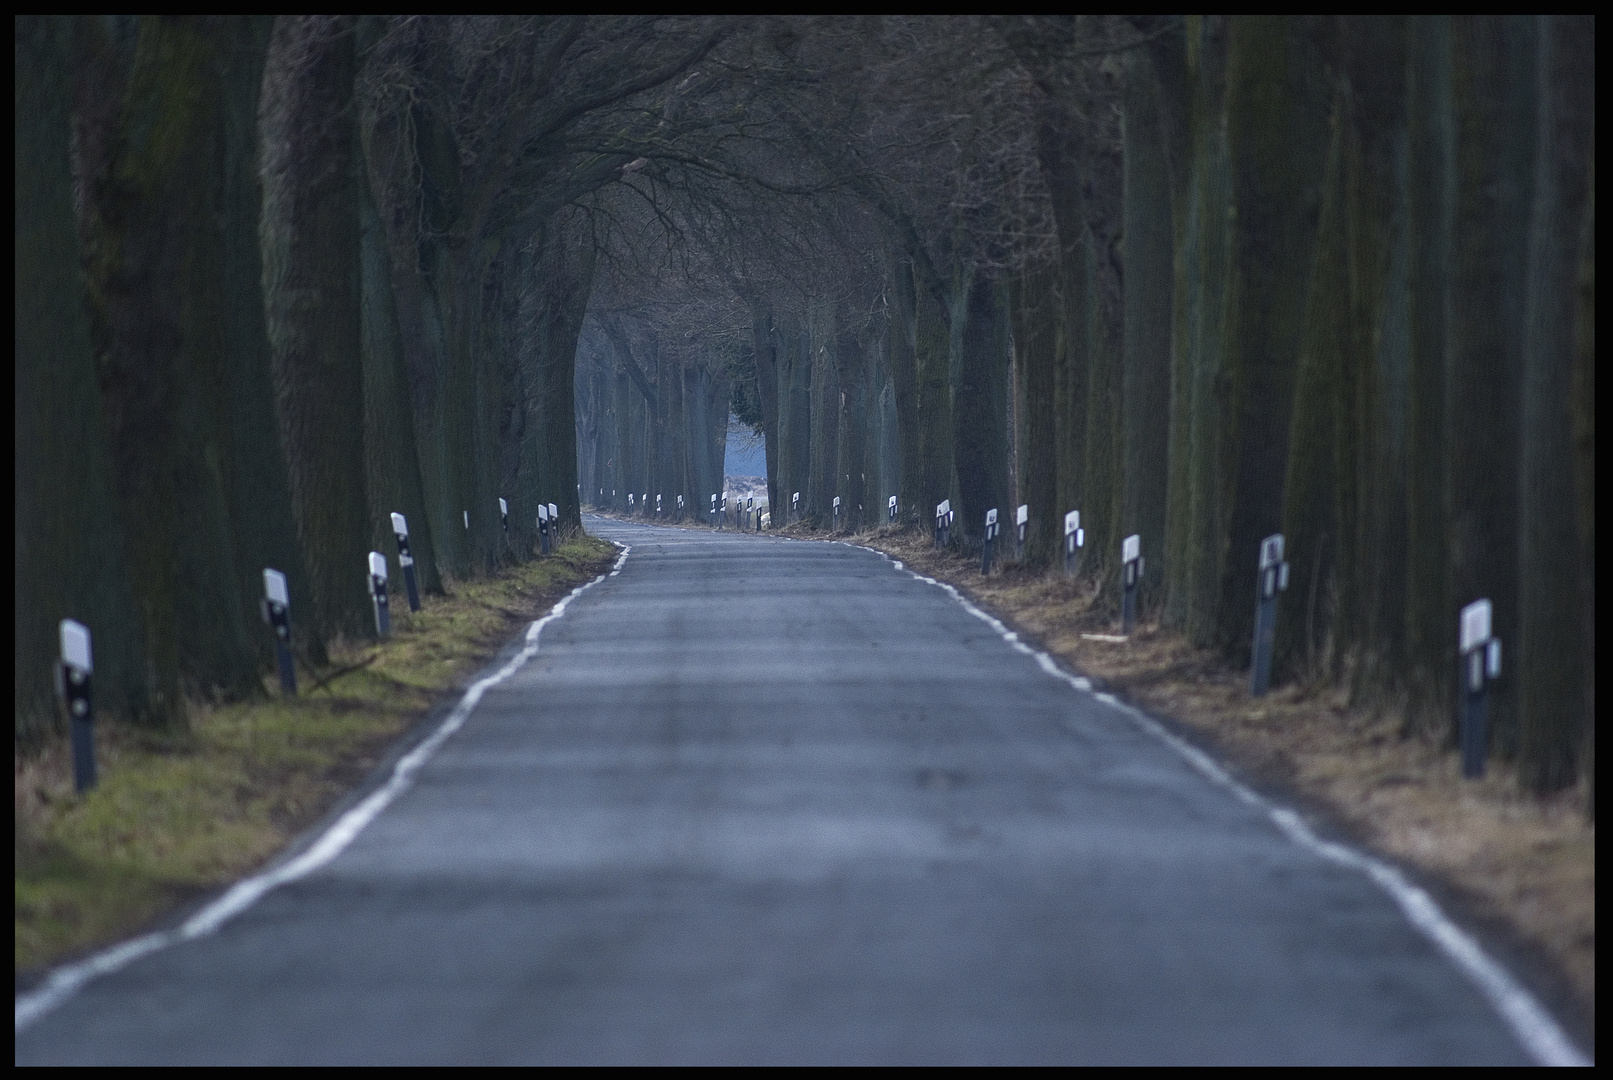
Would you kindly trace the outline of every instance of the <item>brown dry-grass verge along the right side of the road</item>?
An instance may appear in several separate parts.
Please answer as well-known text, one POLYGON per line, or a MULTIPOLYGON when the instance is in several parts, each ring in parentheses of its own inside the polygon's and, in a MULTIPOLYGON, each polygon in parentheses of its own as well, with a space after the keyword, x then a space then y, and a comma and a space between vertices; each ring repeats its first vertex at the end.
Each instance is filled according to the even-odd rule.
POLYGON ((918 532, 853 538, 958 587, 1071 669, 1174 722, 1252 785, 1411 870, 1594 1046, 1595 827, 1584 791, 1536 800, 1507 766, 1463 780, 1453 750, 1402 735, 1395 709, 1347 708, 1337 690, 1281 687, 1257 701, 1247 671, 1158 625, 1103 640, 1119 627, 1094 611, 1089 585, 1061 574, 982 577, 979 563, 937 553, 918 532))

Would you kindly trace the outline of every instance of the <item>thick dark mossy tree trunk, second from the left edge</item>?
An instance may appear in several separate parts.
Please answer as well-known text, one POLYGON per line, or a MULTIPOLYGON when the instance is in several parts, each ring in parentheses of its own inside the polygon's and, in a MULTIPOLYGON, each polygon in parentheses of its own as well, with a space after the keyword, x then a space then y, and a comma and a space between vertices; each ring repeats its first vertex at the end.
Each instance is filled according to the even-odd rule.
MULTIPOLYGON (((82 26, 95 32, 92 21, 82 26)), ((223 222, 235 206, 224 100, 235 29, 227 19, 142 18, 127 81, 102 102, 100 118, 85 118, 81 142, 116 492, 160 687, 153 714, 174 721, 181 687, 261 693, 244 596, 250 575, 237 561, 226 488, 232 297, 223 222)))

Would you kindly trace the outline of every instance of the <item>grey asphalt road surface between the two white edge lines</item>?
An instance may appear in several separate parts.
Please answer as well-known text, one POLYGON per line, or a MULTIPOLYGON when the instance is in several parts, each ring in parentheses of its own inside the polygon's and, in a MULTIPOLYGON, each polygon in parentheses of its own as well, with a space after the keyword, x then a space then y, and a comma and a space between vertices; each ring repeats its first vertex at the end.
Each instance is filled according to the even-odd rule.
POLYGON ((632 545, 321 870, 34 1062, 1524 1062, 1389 896, 934 585, 632 545))

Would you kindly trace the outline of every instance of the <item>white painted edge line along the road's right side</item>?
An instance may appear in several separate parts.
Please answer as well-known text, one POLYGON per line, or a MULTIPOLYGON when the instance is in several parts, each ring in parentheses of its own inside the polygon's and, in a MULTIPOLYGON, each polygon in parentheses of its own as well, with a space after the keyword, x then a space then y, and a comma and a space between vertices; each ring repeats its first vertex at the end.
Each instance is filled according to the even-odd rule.
MULTIPOLYGON (((850 548, 863 548, 860 543, 848 543, 845 540, 840 540, 839 543, 845 543, 850 548)), ((1216 764, 1210 754, 1165 730, 1165 725, 1153 717, 1126 704, 1111 693, 1094 692, 1092 680, 1084 679, 1082 675, 1071 675, 1061 669, 1052 656, 1021 642, 1019 635, 1005 627, 1000 619, 976 608, 963 596, 963 593, 947 582, 939 582, 934 577, 919 574, 918 571, 910 571, 900 559, 894 559, 877 548, 863 550, 884 556, 895 566, 895 569, 905 571, 918 580, 944 590, 948 596, 963 604, 965 611, 997 630, 997 633, 1002 635, 1002 638, 1015 650, 1036 658, 1037 666, 1040 666, 1040 669, 1048 675, 1069 683, 1082 693, 1090 693, 1103 704, 1123 712, 1137 727, 1165 741, 1176 753, 1186 758, 1187 762, 1205 777, 1224 787, 1248 806, 1265 811, 1265 814, 1271 819, 1271 824, 1298 846, 1327 859, 1329 862, 1366 874, 1366 877, 1378 883, 1379 888, 1389 893, 1389 898, 1400 908, 1407 922, 1429 938, 1439 951, 1444 953, 1445 957, 1450 959, 1450 962, 1453 962, 1458 969, 1461 969, 1474 987, 1478 987, 1479 993, 1484 995, 1484 999, 1489 1001, 1490 1006, 1502 1016, 1502 1020, 1507 1022, 1507 1027, 1511 1028, 1511 1033, 1518 1038, 1524 1051, 1536 1061, 1536 1064, 1592 1064, 1589 1057, 1579 1053, 1579 1048, 1574 1046, 1557 1020, 1552 1019, 1552 1014, 1534 999, 1534 995, 1524 990, 1524 987, 1513 978, 1498 961, 1486 953, 1471 933, 1452 922, 1450 917, 1440 911, 1434 898, 1428 895, 1428 890, 1408 882, 1400 870, 1389 866, 1382 859, 1366 854, 1365 851, 1357 851, 1332 840, 1323 840, 1297 812, 1276 806, 1269 800, 1248 790, 1234 780, 1226 769, 1216 764)))

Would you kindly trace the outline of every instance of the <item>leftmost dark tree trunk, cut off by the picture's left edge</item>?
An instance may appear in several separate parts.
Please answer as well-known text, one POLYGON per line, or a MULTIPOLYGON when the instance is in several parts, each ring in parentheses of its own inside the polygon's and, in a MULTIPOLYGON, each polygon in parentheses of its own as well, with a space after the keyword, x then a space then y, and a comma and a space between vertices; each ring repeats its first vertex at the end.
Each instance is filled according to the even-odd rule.
MULTIPOLYGON (((32 750, 60 727, 53 671, 61 619, 90 630, 103 717, 152 719, 153 687, 79 277, 68 163, 73 23, 19 16, 15 31, 13 735, 32 750)), ((173 667, 160 675, 169 693, 177 690, 173 667)))

